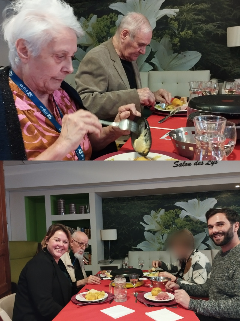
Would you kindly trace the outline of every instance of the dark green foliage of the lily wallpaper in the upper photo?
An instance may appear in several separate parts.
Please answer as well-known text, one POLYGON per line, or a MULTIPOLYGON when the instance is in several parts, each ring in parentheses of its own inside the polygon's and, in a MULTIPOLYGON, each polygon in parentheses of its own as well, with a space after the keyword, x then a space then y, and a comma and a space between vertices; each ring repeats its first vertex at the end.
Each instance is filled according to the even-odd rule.
MULTIPOLYGON (((73 5, 76 15, 85 18, 87 22, 93 15, 97 15, 90 29, 85 26, 92 41, 85 47, 79 46, 80 52, 74 63, 77 68, 87 49, 114 34, 119 11, 109 8, 109 5, 116 2, 125 3, 126 0, 68 0, 68 2, 73 5)), ((169 37, 174 53, 199 52, 202 56, 191 68, 192 70, 210 70, 212 77, 218 78, 219 81, 240 77, 240 47, 227 47, 226 32, 227 27, 240 24, 239 0, 156 0, 157 3, 161 6, 161 10, 168 8, 179 11, 176 16, 169 17, 165 14, 156 21, 153 39, 160 42, 164 36, 169 37)), ((156 65, 151 61, 153 54, 151 51, 150 55, 146 56, 145 67, 147 66, 148 70, 156 69, 156 65)))

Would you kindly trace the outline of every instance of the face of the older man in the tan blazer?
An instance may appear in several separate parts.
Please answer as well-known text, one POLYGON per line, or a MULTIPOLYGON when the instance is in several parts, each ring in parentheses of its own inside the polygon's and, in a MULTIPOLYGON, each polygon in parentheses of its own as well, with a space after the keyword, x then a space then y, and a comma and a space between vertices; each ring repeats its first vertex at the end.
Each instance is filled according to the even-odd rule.
POLYGON ((139 31, 134 39, 131 39, 129 32, 122 37, 122 54, 127 61, 135 61, 138 56, 144 55, 146 46, 149 45, 152 39, 152 31, 143 33, 139 31))

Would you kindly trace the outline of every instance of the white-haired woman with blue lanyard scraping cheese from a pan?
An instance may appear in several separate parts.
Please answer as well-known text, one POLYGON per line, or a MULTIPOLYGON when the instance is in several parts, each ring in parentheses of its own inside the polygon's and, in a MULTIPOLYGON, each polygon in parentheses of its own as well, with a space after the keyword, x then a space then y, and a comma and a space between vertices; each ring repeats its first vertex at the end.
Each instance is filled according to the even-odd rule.
MULTIPOLYGON (((15 0, 5 9, 11 67, 0 71, 1 160, 89 160, 123 134, 102 128, 63 79, 84 32, 61 0, 15 0)), ((116 121, 140 115, 121 106, 116 121)))

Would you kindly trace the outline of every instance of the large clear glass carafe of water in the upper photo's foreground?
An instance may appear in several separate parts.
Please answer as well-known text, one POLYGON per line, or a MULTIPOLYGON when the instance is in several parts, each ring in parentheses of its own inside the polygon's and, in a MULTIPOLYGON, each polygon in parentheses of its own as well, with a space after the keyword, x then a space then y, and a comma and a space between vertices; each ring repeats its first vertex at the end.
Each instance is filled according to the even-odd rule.
POLYGON ((196 128, 194 160, 227 160, 223 134, 226 118, 203 115, 193 118, 196 128))

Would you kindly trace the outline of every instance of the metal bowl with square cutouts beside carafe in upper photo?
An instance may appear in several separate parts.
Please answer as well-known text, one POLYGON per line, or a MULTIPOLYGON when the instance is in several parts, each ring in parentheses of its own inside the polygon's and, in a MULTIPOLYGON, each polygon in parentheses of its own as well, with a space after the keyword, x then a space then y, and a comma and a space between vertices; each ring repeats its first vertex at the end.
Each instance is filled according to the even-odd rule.
POLYGON ((193 160, 196 149, 195 134, 195 127, 181 127, 171 130, 169 133, 176 152, 189 160, 193 160))

